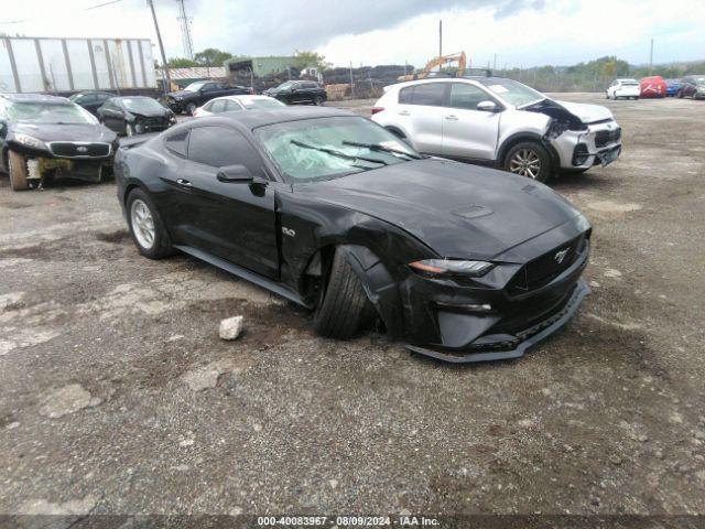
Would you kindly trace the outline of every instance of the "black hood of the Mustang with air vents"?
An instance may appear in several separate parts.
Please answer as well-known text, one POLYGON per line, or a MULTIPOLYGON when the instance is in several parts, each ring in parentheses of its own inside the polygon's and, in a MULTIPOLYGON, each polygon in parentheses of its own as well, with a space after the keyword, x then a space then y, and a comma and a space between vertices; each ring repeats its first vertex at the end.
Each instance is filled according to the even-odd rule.
POLYGON ((459 259, 524 262, 535 256, 516 247, 579 216, 541 183, 438 159, 303 184, 295 192, 390 223, 440 256, 459 259))

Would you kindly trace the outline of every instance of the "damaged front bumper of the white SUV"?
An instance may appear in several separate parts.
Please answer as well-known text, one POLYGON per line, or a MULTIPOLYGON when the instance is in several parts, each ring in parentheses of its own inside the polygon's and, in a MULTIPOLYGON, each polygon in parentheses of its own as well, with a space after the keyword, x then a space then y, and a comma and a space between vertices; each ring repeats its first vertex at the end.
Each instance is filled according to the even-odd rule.
POLYGON ((614 121, 593 123, 587 130, 566 130, 551 139, 561 169, 585 170, 616 161, 621 154, 621 129, 614 121))

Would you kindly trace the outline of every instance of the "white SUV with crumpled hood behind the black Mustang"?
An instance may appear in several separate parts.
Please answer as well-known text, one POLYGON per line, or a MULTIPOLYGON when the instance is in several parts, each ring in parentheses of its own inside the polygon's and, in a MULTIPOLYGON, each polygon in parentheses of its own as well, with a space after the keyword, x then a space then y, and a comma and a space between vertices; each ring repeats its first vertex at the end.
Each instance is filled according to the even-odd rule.
POLYGON ((491 164, 546 182, 607 165, 621 129, 598 105, 553 100, 502 77, 412 80, 387 88, 372 120, 423 153, 491 164))

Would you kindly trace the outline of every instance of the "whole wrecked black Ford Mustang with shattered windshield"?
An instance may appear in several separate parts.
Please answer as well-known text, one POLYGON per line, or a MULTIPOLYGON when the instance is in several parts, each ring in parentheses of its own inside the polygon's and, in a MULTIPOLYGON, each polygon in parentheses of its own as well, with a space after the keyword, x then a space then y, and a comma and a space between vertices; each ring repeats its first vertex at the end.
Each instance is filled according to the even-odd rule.
MULTIPOLYGON (((130 143, 132 141, 133 143, 130 143)), ((587 219, 521 176, 422 158, 334 109, 221 114, 116 156, 138 250, 182 250, 314 310, 325 336, 375 317, 417 353, 512 358, 588 292, 587 219)))

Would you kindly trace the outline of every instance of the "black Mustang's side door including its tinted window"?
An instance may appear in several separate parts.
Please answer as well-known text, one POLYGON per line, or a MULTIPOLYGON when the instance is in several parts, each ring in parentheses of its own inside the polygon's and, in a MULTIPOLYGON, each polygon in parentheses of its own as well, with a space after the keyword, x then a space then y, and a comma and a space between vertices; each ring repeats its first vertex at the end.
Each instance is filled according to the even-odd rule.
POLYGON ((177 236, 199 250, 278 279, 273 186, 220 182, 219 168, 234 164, 269 181, 261 158, 239 131, 221 126, 191 129, 184 170, 174 175, 178 209, 188 210, 177 236))

